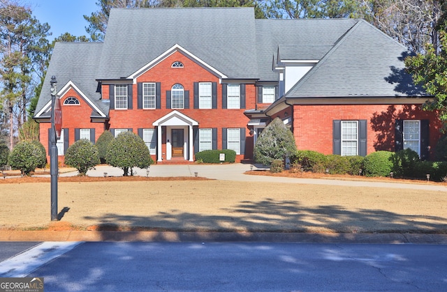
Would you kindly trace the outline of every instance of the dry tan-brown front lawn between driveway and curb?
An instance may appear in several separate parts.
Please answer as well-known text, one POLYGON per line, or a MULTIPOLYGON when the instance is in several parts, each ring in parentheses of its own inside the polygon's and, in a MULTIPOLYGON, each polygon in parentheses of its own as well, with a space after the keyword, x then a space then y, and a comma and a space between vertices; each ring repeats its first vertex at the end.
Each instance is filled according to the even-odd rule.
MULTIPOLYGON (((284 175, 284 174, 283 174, 284 175)), ((0 179, 1 229, 447 233, 447 193, 203 178, 0 179)))

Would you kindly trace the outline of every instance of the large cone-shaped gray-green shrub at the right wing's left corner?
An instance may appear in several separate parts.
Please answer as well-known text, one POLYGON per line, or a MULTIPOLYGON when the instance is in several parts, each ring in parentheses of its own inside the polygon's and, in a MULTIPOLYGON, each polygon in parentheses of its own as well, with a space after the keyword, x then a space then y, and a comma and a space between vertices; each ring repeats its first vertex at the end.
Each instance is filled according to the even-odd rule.
POLYGON ((293 134, 280 118, 275 118, 263 130, 254 146, 256 162, 269 165, 273 160, 284 160, 296 152, 293 134))

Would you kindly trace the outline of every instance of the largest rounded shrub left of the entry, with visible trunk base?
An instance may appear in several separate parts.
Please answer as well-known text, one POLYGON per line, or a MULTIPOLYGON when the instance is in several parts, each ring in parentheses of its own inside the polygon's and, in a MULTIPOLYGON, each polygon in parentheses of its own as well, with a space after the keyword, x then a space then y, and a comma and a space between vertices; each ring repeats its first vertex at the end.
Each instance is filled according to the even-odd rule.
POLYGON ((145 141, 130 131, 120 133, 110 143, 105 159, 112 167, 123 169, 123 176, 129 176, 129 169, 133 175, 133 167, 144 169, 154 163, 145 141))

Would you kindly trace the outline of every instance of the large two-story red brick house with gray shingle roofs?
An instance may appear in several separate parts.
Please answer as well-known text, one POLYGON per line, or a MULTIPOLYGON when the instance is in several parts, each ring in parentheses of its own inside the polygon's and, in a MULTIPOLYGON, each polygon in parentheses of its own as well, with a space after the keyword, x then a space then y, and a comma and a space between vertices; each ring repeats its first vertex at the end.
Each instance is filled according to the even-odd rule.
POLYGON ((404 72, 406 48, 363 20, 255 20, 253 8, 112 9, 103 43, 57 43, 36 109, 48 147, 58 82, 61 159, 78 139, 133 131, 158 163, 206 149, 253 158, 272 118, 299 149, 429 158, 440 122, 404 72))

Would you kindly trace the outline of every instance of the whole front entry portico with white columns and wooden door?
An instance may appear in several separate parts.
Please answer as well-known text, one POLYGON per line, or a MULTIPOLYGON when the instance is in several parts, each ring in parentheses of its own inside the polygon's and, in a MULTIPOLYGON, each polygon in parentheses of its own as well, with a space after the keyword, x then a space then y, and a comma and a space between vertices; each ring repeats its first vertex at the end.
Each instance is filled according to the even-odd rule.
POLYGON ((173 157, 193 161, 193 126, 198 125, 197 121, 173 111, 154 121, 152 125, 157 127, 157 161, 171 160, 173 157), (163 144, 166 144, 166 152, 163 152, 163 144))

